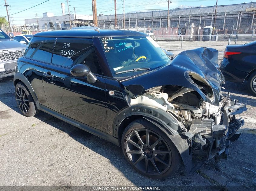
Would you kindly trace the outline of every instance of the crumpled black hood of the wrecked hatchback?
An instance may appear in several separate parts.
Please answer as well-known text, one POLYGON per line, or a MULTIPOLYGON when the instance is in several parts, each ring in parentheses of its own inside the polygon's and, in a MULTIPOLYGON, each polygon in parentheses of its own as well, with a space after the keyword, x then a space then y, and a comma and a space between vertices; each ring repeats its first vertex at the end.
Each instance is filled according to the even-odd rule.
POLYGON ((205 101, 218 106, 221 84, 224 80, 218 66, 218 50, 202 47, 181 52, 172 60, 170 65, 141 73, 122 80, 120 83, 135 97, 156 86, 183 86, 197 91, 205 101), (190 78, 191 74, 211 87, 214 101, 209 100, 198 85, 194 83, 190 78))

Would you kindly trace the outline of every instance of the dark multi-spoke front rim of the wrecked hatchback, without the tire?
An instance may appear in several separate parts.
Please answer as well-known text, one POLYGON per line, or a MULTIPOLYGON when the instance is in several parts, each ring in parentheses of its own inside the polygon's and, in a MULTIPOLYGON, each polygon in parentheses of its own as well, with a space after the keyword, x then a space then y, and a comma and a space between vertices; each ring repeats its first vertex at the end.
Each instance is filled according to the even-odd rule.
POLYGON ((161 175, 171 166, 169 146, 149 129, 131 131, 125 140, 125 151, 133 166, 147 175, 161 175))

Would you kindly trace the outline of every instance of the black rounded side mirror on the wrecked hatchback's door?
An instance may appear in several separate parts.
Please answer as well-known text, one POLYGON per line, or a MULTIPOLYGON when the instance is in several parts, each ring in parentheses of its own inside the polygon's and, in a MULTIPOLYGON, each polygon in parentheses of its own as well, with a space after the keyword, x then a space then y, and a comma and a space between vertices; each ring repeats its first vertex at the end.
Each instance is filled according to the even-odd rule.
POLYGON ((87 81, 89 83, 94 83, 97 80, 96 76, 93 75, 93 73, 91 73, 90 68, 87 65, 84 65, 84 64, 74 65, 70 69, 70 73, 73 76, 76 76, 76 77, 84 77, 84 76, 86 76, 87 77, 87 81))

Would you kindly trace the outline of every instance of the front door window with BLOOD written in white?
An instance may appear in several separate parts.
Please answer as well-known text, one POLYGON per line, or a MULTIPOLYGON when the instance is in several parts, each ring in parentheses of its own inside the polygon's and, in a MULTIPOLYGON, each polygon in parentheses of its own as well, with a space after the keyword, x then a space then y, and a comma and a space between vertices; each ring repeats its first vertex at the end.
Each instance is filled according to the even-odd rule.
POLYGON ((57 38, 52 63, 69 68, 86 64, 92 73, 102 75, 92 39, 57 38))

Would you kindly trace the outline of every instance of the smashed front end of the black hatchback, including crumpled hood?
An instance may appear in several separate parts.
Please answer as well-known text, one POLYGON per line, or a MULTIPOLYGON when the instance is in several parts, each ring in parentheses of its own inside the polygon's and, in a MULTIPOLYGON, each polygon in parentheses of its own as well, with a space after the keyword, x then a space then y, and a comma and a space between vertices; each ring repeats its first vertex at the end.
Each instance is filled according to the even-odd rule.
POLYGON ((188 50, 164 67, 120 80, 130 106, 120 113, 161 126, 190 173, 211 158, 227 159, 229 142, 244 125, 235 115, 246 111, 246 104, 221 94, 224 77, 217 61, 215 49, 188 50))

